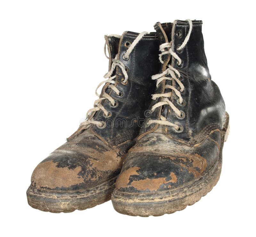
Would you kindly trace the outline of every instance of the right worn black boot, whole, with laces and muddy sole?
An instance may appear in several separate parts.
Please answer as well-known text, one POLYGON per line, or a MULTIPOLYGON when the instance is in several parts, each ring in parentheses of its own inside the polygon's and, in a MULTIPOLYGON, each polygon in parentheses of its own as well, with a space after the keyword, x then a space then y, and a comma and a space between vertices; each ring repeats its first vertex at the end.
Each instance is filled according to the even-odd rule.
POLYGON ((151 115, 124 158, 112 203, 132 216, 184 209, 218 182, 228 114, 211 80, 202 21, 155 25, 162 70, 152 77, 151 115))

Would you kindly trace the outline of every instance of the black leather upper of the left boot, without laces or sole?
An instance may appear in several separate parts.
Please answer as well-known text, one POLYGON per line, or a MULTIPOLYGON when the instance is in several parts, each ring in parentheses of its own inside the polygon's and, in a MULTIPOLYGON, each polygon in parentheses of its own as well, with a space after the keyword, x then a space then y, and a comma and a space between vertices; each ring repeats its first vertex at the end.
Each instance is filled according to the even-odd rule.
MULTIPOLYGON (((108 100, 103 106, 111 112, 114 124, 117 120, 126 119, 127 126, 100 129, 95 125, 85 130, 78 130, 68 142, 60 146, 44 159, 34 170, 31 185, 36 188, 58 191, 88 189, 108 181, 121 171, 124 154, 135 143, 140 126, 138 118, 144 119, 144 112, 151 101, 155 83, 151 75, 160 70, 158 61, 159 40, 156 33, 147 34, 141 39, 125 61, 122 56, 127 48, 125 41, 134 41, 138 33, 125 32, 122 39, 105 36, 109 52, 109 68, 112 59, 118 58, 128 68, 128 82, 122 84, 120 69, 116 73, 116 87, 123 92, 120 98, 115 92, 106 90, 117 102, 113 108, 108 100), (133 122, 133 123, 132 123, 133 122), (128 126, 133 124, 133 126, 128 126)), ((93 113, 94 120, 106 121, 102 111, 93 113)))

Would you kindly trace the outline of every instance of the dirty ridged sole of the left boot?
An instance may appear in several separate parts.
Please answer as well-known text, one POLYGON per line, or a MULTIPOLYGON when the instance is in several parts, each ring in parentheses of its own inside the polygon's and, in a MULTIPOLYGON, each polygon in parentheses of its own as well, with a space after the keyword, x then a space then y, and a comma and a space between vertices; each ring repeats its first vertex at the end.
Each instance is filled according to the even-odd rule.
POLYGON ((53 213, 85 210, 111 199, 117 176, 99 186, 76 191, 49 191, 29 186, 28 204, 41 211, 53 213))

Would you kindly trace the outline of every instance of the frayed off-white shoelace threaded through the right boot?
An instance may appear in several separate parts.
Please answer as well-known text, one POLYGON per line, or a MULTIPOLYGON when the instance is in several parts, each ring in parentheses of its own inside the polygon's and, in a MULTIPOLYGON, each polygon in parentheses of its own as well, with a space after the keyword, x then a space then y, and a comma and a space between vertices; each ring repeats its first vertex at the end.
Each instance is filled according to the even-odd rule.
MULTIPOLYGON (((188 34, 187 34, 185 40, 180 45, 178 50, 182 50, 186 46, 186 44, 188 43, 191 31, 192 31, 192 21, 189 20, 189 19, 187 19, 187 21, 189 23, 189 31, 188 31, 188 34)), ((179 65, 182 63, 180 57, 175 52, 172 51, 172 41, 169 42, 169 43, 161 44, 159 50, 162 52, 161 54, 159 54, 159 60, 162 64, 164 63, 164 61, 162 60, 162 56, 165 55, 165 54, 171 54, 171 56, 173 58, 178 60, 179 65), (168 51, 164 51, 165 48, 169 48, 168 51)), ((173 80, 174 79, 177 82, 177 84, 179 85, 179 90, 176 89, 172 85, 165 85, 165 89, 171 89, 172 91, 168 92, 168 93, 161 93, 161 94, 152 95, 153 100, 156 100, 159 97, 162 97, 163 100, 156 103, 154 106, 152 106, 151 111, 153 112, 156 108, 161 107, 163 105, 169 105, 176 115, 182 117, 183 113, 168 98, 171 97, 172 92, 174 92, 179 97, 179 103, 182 104, 183 99, 182 99, 182 96, 181 96, 180 93, 182 93, 185 88, 184 88, 184 85, 181 83, 181 81, 179 79, 181 77, 180 72, 177 69, 173 68, 170 64, 167 67, 168 68, 166 70, 164 70, 162 73, 152 76, 152 80, 156 80, 156 87, 158 87, 158 85, 161 81, 163 81, 163 80, 173 80), (171 77, 167 77, 167 75, 170 75, 171 77), (176 75, 178 76, 178 78, 176 77, 176 75)), ((160 120, 149 120, 148 121, 148 124, 151 124, 151 123, 158 123, 158 124, 161 124, 161 125, 172 126, 176 130, 180 130, 179 125, 167 121, 166 118, 162 115, 160 116, 160 120)))

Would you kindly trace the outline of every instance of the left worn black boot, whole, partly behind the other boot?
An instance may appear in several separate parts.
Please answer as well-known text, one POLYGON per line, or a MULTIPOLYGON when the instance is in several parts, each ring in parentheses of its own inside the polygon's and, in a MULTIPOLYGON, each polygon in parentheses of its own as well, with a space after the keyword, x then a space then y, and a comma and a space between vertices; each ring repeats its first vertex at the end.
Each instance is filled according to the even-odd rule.
POLYGON ((27 190, 33 208, 71 212, 108 201, 139 134, 155 88, 151 75, 161 68, 158 35, 124 32, 105 40, 109 72, 100 98, 67 142, 35 168, 27 190))

